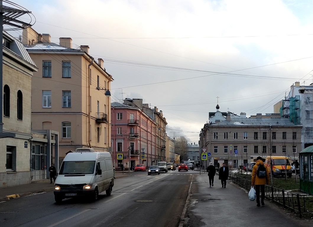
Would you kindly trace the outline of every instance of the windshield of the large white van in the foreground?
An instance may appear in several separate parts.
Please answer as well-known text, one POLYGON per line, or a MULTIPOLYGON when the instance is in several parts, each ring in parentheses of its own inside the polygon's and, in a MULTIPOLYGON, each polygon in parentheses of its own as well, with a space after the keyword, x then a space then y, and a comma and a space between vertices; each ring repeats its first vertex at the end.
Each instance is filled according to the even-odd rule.
POLYGON ((93 174, 95 161, 66 161, 63 162, 59 174, 93 174))

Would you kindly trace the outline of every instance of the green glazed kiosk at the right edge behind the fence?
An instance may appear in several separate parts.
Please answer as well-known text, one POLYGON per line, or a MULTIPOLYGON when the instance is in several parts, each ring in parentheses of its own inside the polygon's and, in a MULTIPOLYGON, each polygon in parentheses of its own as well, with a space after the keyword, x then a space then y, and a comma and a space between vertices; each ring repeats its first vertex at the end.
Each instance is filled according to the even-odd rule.
POLYGON ((313 194, 313 146, 306 147, 299 153, 300 191, 313 194))

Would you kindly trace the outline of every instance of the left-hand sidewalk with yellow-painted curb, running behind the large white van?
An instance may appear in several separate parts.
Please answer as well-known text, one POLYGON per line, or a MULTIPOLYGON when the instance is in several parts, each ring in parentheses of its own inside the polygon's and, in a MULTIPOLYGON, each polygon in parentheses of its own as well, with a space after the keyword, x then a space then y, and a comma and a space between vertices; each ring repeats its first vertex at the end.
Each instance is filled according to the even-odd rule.
MULTIPOLYGON (((131 172, 127 172, 126 170, 123 174, 122 171, 115 171, 115 178, 127 177, 131 172)), ((50 184, 50 179, 35 180, 30 184, 4 187, 0 188, 0 202, 31 195, 33 193, 49 192, 53 191, 53 189, 54 184, 50 184)))

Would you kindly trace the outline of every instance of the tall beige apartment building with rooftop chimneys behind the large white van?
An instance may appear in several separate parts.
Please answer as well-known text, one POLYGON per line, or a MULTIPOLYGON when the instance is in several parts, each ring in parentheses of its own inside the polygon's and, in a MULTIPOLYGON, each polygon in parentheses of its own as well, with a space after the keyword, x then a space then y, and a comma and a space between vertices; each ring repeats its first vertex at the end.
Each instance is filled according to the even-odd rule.
MULTIPOLYGON (((110 83, 102 59, 71 38, 23 29, 23 44, 38 67, 31 85, 32 130, 60 132, 59 157, 79 147, 110 150, 110 83)), ((60 160, 55 160, 55 162, 60 160)))

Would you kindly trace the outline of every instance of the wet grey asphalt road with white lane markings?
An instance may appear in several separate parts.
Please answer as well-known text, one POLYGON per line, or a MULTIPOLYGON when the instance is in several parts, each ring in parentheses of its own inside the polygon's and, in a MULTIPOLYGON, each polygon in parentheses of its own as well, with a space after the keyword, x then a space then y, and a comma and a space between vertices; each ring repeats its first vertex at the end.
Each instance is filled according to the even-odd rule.
POLYGON ((111 196, 99 200, 64 199, 54 202, 53 192, 1 203, 0 226, 178 226, 192 174, 169 171, 147 176, 134 172, 115 180, 111 196))

